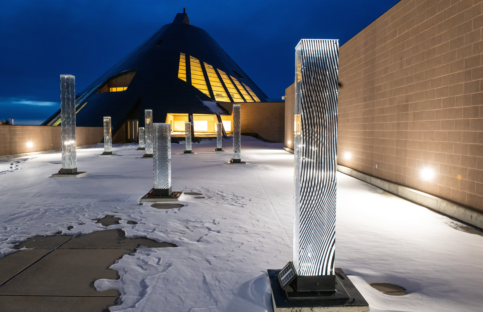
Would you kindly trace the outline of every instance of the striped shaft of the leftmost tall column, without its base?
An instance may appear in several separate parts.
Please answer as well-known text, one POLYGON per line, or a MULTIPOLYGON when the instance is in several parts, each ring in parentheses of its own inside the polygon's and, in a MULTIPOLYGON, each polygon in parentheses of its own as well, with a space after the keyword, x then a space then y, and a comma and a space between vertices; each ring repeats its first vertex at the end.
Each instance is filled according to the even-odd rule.
POLYGON ((60 75, 62 169, 77 168, 75 140, 75 77, 60 75))

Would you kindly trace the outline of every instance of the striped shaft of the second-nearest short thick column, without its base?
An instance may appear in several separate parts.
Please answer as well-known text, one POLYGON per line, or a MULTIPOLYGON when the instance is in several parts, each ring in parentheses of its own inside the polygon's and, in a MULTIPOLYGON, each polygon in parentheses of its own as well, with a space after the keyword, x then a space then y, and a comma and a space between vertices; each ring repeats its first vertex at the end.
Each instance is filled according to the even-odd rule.
POLYGON ((154 188, 171 187, 171 124, 153 123, 154 188))

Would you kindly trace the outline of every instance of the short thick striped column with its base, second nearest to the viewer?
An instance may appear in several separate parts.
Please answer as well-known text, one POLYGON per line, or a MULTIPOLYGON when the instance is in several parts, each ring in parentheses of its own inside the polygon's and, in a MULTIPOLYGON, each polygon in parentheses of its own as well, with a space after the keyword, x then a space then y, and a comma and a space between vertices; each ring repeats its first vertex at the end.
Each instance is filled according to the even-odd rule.
POLYGON ((183 192, 171 191, 171 124, 153 123, 153 185, 141 202, 177 200, 183 192))

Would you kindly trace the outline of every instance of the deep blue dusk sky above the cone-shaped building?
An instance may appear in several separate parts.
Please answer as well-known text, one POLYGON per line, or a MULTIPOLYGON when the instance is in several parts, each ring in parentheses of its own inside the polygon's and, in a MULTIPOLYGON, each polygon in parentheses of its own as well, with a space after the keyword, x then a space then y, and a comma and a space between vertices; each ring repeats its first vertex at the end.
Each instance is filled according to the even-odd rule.
POLYGON ((59 107, 59 75, 76 93, 186 8, 270 98, 294 79, 305 39, 348 41, 398 0, 1 0, 0 119, 40 124, 59 107))

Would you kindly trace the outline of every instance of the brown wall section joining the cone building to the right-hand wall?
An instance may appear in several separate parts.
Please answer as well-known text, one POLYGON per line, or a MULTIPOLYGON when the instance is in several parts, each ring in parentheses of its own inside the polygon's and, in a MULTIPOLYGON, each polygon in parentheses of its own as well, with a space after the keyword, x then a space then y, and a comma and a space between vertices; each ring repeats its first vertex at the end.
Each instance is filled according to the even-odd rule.
MULTIPOLYGON (((269 142, 284 142, 284 102, 240 104, 241 133, 256 133, 269 142)), ((233 103, 220 103, 231 114, 233 103)))

